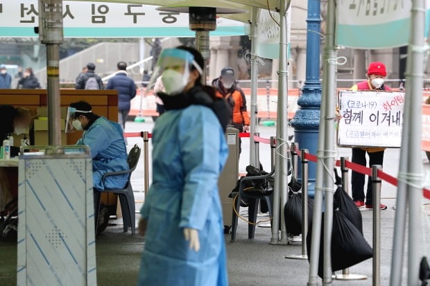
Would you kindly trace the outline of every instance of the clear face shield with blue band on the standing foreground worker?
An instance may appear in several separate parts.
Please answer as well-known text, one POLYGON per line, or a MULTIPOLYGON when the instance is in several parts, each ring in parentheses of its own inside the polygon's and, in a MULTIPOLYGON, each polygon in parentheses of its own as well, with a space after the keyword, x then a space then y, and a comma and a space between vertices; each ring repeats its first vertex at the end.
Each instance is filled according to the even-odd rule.
POLYGON ((180 48, 165 48, 151 75, 149 89, 154 88, 157 78, 161 76, 164 91, 168 95, 175 96, 181 93, 189 82, 191 66, 195 66, 198 72, 202 73, 202 69, 189 51, 180 48))

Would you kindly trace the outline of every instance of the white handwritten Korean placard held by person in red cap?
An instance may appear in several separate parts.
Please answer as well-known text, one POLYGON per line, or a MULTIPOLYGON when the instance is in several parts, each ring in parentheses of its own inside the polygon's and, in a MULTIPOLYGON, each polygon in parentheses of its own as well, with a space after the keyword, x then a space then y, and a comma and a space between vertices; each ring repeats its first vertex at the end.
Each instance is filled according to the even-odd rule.
POLYGON ((404 93, 339 91, 338 145, 399 148, 404 93))

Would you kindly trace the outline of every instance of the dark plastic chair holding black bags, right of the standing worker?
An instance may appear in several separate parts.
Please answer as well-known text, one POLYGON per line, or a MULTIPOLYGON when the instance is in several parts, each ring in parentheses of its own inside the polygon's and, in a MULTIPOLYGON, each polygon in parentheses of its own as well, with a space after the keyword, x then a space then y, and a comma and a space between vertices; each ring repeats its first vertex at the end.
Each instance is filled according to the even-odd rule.
MULTIPOLYGON (((239 183, 239 193, 237 193, 235 203, 233 204, 233 208, 236 209, 237 213, 239 213, 239 208, 241 206, 241 199, 243 197, 248 199, 249 206, 248 206, 248 220, 249 222, 252 222, 254 224, 248 224, 248 238, 252 239, 255 235, 255 222, 257 222, 257 213, 258 213, 258 205, 260 202, 260 199, 266 200, 267 206, 268 206, 268 213, 270 217, 273 217, 273 190, 268 195, 257 195, 257 194, 250 194, 243 191, 243 187, 245 185, 245 181, 253 181, 257 179, 268 179, 269 177, 272 177, 272 175, 275 173, 275 170, 272 170, 268 175, 263 176, 254 176, 254 177, 243 177, 240 179, 239 183)), ((237 229, 237 215, 236 212, 233 209, 233 215, 232 215, 232 242, 236 239, 236 229, 237 229)), ((270 222, 271 223, 271 222, 270 222)))

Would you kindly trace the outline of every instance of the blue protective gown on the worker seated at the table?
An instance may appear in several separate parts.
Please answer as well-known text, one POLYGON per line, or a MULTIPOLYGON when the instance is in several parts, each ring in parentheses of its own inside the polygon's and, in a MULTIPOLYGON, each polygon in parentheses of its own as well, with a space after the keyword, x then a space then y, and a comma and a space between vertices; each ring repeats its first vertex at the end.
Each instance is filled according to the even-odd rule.
POLYGON ((101 116, 83 133, 78 145, 87 145, 92 157, 92 179, 94 188, 99 190, 123 188, 128 175, 101 177, 106 172, 128 170, 127 149, 121 125, 101 116))

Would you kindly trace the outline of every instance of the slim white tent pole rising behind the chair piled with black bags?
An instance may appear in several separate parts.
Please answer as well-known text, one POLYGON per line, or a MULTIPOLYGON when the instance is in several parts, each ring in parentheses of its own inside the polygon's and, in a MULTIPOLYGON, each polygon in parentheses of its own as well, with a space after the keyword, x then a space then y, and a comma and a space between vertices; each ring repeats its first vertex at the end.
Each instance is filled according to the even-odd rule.
MULTIPOLYGON (((250 24, 251 40, 251 110, 250 110, 250 134, 255 134, 258 125, 257 119, 257 88, 258 88, 258 56, 257 56, 257 29, 259 8, 252 7, 252 19, 250 24)), ((256 159, 254 138, 250 137, 250 166, 259 168, 259 160, 256 159)))

